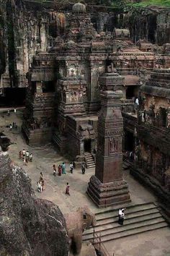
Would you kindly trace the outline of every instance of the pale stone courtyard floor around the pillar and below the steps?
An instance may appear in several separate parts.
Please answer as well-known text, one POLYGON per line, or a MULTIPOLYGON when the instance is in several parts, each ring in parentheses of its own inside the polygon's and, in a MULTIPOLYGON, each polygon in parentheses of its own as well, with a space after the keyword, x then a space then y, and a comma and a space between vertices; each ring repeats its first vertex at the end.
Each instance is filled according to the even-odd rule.
MULTIPOLYGON (((81 169, 76 168, 73 174, 69 172, 69 161, 63 158, 59 153, 56 152, 53 145, 42 145, 42 147, 30 147, 22 138, 20 133, 20 127, 22 124, 22 112, 17 111, 17 116, 12 113, 11 116, 6 116, 1 113, 0 116, 0 128, 4 135, 9 137, 12 145, 9 146, 9 156, 17 163, 17 165, 24 168, 32 180, 32 187, 35 190, 37 197, 50 200, 59 206, 62 213, 68 213, 72 210, 87 205, 93 213, 102 211, 104 209, 97 208, 94 203, 86 195, 87 184, 91 175, 94 174, 94 168, 87 168, 86 174, 81 174, 81 169), (16 121, 19 129, 17 132, 9 131, 7 125, 16 121), (29 150, 32 153, 33 161, 28 163, 27 166, 19 159, 19 150, 29 150), (53 176, 53 163, 56 166, 58 164, 66 163, 66 175, 53 176), (37 192, 37 181, 39 180, 40 171, 45 178, 45 190, 42 193, 37 192), (70 184, 71 196, 65 195, 66 182, 70 184)), ((130 176, 129 171, 123 171, 123 176, 129 184, 130 198, 132 202, 127 205, 115 205, 117 209, 119 206, 125 207, 128 205, 141 204, 143 202, 156 202, 158 199, 148 191, 145 187, 139 184, 133 176, 130 176)), ((112 207, 113 208, 113 207, 112 207)), ((121 256, 168 256, 170 255, 170 229, 168 227, 155 231, 148 231, 143 234, 135 236, 128 236, 119 240, 106 242, 105 247, 107 248, 110 255, 121 256)))

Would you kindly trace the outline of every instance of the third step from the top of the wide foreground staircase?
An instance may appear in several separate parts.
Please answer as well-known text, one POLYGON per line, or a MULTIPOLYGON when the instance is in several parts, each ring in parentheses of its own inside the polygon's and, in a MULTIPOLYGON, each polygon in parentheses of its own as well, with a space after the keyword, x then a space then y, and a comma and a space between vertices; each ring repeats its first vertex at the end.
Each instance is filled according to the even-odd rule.
MULTIPOLYGON (((97 234, 100 234, 101 235, 101 238, 102 238, 102 241, 105 240, 105 241, 109 241, 108 239, 108 236, 110 238, 110 236, 112 237, 112 239, 114 238, 115 239, 115 236, 119 233, 122 233, 122 232, 127 232, 127 231, 131 231, 131 230, 136 230, 138 233, 139 232, 139 229, 140 228, 146 228, 146 230, 149 230, 149 226, 152 226, 152 225, 156 225, 156 224, 159 224, 159 223, 164 223, 164 226, 168 226, 168 223, 166 223, 164 221, 164 218, 162 217, 158 217, 158 218, 153 218, 153 219, 147 219, 147 220, 144 220, 144 221, 138 221, 136 223, 125 223, 124 225, 120 226, 118 224, 118 226, 113 226, 112 228, 109 228, 109 229, 104 229, 102 231, 97 231, 96 233, 97 234), (115 235, 115 236, 113 236, 115 235), (107 239, 106 239, 106 236, 107 236, 107 239)), ((83 240, 86 241, 86 240, 91 240, 93 238, 93 234, 84 234, 83 235, 83 240)))

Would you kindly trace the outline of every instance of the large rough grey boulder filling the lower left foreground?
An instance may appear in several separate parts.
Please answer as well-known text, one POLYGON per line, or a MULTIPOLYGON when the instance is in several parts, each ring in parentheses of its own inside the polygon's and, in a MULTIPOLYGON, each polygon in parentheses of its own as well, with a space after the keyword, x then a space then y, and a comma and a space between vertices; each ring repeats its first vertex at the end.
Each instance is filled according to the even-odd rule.
POLYGON ((35 197, 22 168, 0 151, 0 255, 68 255, 66 222, 58 206, 35 197))

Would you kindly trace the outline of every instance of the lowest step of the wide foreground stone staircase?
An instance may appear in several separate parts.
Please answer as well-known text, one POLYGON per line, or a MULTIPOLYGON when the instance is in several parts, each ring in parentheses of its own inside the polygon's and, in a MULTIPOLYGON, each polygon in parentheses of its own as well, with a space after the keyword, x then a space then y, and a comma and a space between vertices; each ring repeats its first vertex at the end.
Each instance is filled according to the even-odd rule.
MULTIPOLYGON (((140 233, 143 233, 143 232, 146 232, 146 231, 153 231, 153 230, 156 230, 156 229, 163 229, 163 228, 166 228, 167 226, 168 226, 168 224, 166 222, 155 223, 155 224, 152 224, 152 225, 149 225, 149 226, 141 226, 141 227, 138 227, 138 229, 130 229, 130 230, 127 230, 127 231, 121 231, 117 234, 109 234, 107 236, 102 237, 101 242, 108 242, 108 241, 119 239, 119 238, 122 238, 122 237, 125 237, 125 236, 132 236, 132 235, 135 235, 135 234, 140 234, 140 233)), ((99 242, 94 241, 94 244, 98 244, 98 243, 99 242)))

